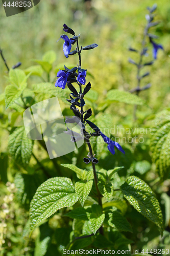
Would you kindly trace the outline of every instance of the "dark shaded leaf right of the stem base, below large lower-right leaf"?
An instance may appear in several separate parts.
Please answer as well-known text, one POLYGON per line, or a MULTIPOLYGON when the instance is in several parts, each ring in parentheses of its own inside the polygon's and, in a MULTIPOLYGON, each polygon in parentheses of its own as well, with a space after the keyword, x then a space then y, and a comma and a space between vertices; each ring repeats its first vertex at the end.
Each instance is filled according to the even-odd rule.
POLYGON ((116 227, 120 231, 129 231, 132 232, 132 228, 130 223, 127 221, 127 219, 120 214, 120 212, 115 209, 112 212, 108 213, 109 215, 109 221, 108 224, 111 227, 116 227))

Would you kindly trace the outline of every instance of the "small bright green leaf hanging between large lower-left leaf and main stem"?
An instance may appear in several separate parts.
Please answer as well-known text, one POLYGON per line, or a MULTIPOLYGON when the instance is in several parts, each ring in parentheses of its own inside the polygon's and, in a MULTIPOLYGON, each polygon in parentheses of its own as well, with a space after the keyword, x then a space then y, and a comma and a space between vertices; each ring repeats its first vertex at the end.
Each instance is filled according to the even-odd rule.
POLYGON ((83 181, 78 181, 75 183, 76 194, 78 195, 79 201, 82 206, 84 205, 84 202, 86 201, 88 195, 90 194, 92 185, 93 185, 92 180, 86 183, 84 183, 83 181))

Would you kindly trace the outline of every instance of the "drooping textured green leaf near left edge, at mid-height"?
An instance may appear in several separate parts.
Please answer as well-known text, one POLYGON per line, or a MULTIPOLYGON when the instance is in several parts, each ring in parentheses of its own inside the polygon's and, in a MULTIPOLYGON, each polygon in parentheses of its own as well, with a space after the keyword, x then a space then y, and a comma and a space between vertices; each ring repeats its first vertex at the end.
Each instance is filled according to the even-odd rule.
POLYGON ((9 135, 9 154, 18 164, 26 167, 29 164, 32 155, 33 143, 34 140, 27 138, 25 127, 18 127, 9 135))

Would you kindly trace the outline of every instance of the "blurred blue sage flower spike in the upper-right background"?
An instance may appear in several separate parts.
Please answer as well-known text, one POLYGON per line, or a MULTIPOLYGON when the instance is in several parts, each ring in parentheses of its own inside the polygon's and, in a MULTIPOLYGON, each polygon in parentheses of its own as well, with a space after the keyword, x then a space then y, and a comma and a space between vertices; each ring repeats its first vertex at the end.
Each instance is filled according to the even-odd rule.
MULTIPOLYGON (((147 85, 145 85, 144 87, 140 87, 141 85, 141 80, 150 75, 150 72, 145 72, 144 74, 141 74, 141 70, 142 68, 144 68, 145 66, 151 66, 153 65, 154 61, 157 59, 157 53, 158 50, 161 49, 163 50, 163 46, 160 44, 157 44, 155 42, 155 39, 158 38, 157 35, 151 34, 150 33, 150 28, 155 27, 159 24, 159 22, 154 22, 154 18, 155 18, 155 14, 154 12, 157 9, 157 5, 154 4, 151 8, 148 7, 147 8, 149 13, 147 15, 145 15, 145 18, 147 19, 147 25, 144 28, 144 32, 143 32, 143 38, 142 38, 142 42, 141 42, 141 50, 136 50, 134 48, 129 48, 129 51, 132 52, 136 52, 139 54, 139 61, 136 62, 133 59, 129 58, 129 62, 132 63, 133 65, 136 66, 137 68, 137 87, 135 87, 134 89, 132 89, 130 92, 131 93, 136 93, 136 95, 139 95, 139 93, 141 91, 144 90, 148 90, 151 87, 151 83, 148 83, 147 85), (150 61, 143 61, 143 57, 148 57, 148 47, 147 47, 147 38, 150 44, 152 44, 153 47, 153 60, 150 61)), ((136 110, 137 110, 137 105, 134 106, 134 119, 136 120, 136 110)))

